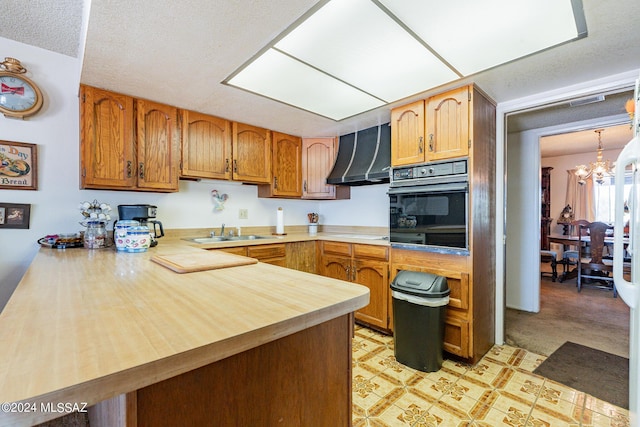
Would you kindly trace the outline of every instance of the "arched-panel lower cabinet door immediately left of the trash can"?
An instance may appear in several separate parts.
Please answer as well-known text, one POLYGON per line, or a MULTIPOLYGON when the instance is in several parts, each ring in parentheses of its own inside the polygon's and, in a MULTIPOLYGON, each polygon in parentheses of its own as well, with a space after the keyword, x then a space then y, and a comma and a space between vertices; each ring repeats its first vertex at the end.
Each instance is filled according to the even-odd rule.
POLYGON ((353 260, 355 283, 369 288, 369 305, 356 311, 356 319, 386 329, 388 327, 388 277, 386 261, 353 260))

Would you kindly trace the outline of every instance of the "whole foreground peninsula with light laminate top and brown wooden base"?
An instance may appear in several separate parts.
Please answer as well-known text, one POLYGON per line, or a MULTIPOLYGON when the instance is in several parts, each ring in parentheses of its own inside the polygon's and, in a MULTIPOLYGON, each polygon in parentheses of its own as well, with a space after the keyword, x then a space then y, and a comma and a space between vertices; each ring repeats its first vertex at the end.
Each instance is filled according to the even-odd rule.
POLYGON ((60 405, 96 425, 350 425, 368 289, 262 262, 178 274, 151 261, 202 250, 41 249, 0 313, 0 425, 60 405))

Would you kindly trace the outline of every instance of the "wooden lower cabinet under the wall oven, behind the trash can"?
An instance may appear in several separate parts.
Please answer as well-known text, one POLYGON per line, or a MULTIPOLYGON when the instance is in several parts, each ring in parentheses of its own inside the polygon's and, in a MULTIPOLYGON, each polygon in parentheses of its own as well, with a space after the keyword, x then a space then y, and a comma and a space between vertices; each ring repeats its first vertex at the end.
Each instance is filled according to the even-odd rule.
MULTIPOLYGON (((491 290, 484 289, 484 284, 491 282, 479 279, 473 283, 469 256, 392 249, 391 280, 400 270, 428 272, 447 278, 450 294, 444 333, 446 352, 475 362, 491 348, 495 330, 493 305, 474 304, 476 294, 480 294, 475 298, 476 302, 484 300, 485 294, 493 295, 491 290)), ((393 329, 392 323, 390 329, 393 329)))

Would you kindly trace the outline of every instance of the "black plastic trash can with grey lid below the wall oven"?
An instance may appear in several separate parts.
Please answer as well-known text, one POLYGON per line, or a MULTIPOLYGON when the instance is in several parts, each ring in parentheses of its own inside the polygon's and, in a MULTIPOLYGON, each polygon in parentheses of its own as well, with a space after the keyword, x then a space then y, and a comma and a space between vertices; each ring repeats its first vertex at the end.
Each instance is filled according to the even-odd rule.
POLYGON ((422 372, 442 367, 447 278, 401 270, 391 283, 396 360, 422 372))

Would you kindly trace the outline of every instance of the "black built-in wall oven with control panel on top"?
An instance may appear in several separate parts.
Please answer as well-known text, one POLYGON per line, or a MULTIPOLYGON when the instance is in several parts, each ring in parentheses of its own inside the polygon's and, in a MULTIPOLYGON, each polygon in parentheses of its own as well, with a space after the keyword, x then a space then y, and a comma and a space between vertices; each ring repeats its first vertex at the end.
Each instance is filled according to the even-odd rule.
POLYGON ((468 159, 395 168, 389 187, 392 247, 468 254, 468 159))

